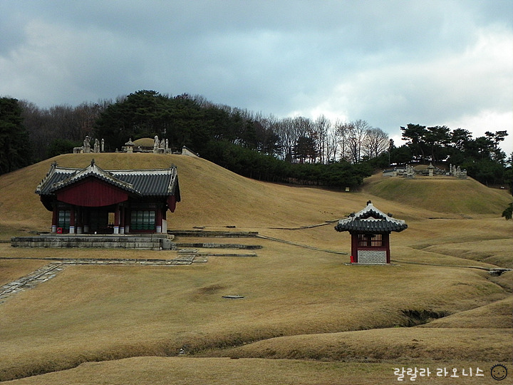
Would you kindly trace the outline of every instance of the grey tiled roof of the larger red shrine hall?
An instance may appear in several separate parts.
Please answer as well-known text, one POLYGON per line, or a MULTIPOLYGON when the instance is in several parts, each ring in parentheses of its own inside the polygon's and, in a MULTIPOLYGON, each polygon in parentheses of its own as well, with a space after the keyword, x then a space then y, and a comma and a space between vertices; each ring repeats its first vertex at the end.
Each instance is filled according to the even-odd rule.
POLYGON ((89 177, 103 180, 134 195, 175 195, 177 202, 180 202, 178 175, 174 165, 155 170, 103 170, 94 160, 86 168, 65 168, 53 163, 46 177, 37 186, 36 193, 53 195, 56 191, 89 177))

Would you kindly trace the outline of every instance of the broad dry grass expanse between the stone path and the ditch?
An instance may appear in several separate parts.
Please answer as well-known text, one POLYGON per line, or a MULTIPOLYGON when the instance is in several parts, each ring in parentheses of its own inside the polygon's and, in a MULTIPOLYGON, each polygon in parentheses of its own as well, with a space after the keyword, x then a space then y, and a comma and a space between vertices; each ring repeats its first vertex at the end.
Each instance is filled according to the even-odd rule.
POLYGON ((262 245, 257 258, 211 257, 190 267, 66 267, 1 304, 1 378, 182 347, 405 326, 405 310, 450 314, 505 297, 478 270, 352 267, 340 255, 262 245))

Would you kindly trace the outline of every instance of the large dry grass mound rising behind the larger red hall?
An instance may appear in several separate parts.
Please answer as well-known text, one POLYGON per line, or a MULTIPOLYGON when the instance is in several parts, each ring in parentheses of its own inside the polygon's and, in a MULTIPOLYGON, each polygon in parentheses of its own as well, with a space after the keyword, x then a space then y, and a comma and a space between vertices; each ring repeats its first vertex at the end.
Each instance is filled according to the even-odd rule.
MULTIPOLYGON (((168 216, 173 228, 194 226, 294 227, 344 217, 371 197, 318 188, 261 183, 202 158, 144 153, 67 154, 0 177, 0 225, 47 230, 51 220, 36 185, 51 163, 86 167, 91 159, 103 169, 167 168, 177 165, 182 202, 168 216)), ((386 205, 385 205, 386 206, 386 205)), ((391 210, 385 207, 383 210, 391 210)), ((397 211, 397 210, 396 210, 397 211)))

